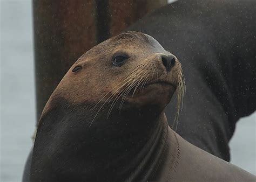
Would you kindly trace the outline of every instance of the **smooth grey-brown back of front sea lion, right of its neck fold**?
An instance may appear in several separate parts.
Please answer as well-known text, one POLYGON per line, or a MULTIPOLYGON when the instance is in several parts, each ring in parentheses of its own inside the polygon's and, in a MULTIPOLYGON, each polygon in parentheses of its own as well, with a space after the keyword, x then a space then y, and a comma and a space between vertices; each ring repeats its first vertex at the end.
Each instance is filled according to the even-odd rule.
POLYGON ((156 181, 255 181, 256 179, 251 173, 185 141, 170 128, 168 141, 173 142, 169 143, 169 153, 166 154, 163 169, 156 181))

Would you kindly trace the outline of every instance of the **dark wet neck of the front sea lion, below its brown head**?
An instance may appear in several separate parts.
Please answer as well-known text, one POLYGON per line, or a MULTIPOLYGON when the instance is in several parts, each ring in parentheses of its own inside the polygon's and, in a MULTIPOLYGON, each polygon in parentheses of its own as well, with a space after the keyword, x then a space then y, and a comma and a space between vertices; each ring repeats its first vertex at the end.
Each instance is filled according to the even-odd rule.
POLYGON ((145 109, 137 113, 132 109, 133 113, 126 110, 106 118, 107 110, 103 109, 90 126, 96 114, 90 104, 71 106, 62 99, 54 105, 42 117, 35 142, 35 146, 45 144, 35 147, 35 158, 48 156, 49 160, 35 168, 45 169, 42 173, 48 173, 47 180, 58 181, 57 177, 61 177, 61 180, 124 181, 154 176, 168 131, 163 112, 155 116, 148 113, 150 117, 146 117, 145 109), (52 137, 55 139, 51 140, 52 137), (51 169, 44 168, 51 160, 57 161, 51 169))

